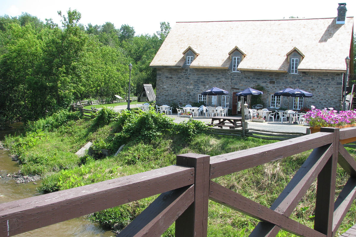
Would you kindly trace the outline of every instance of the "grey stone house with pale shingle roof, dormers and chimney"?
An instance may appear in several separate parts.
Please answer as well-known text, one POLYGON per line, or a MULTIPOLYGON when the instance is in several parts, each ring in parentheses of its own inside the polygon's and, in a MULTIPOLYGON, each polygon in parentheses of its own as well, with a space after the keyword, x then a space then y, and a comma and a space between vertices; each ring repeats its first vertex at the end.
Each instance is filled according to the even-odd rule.
POLYGON ((354 18, 346 17, 345 5, 339 4, 334 18, 177 22, 150 64, 157 68, 156 102, 204 101, 236 114, 235 93, 257 86, 265 107, 286 108, 289 102, 295 109, 340 109, 345 58, 353 58, 354 18), (201 95, 213 86, 229 95, 201 95), (288 101, 273 95, 286 87, 313 97, 288 101))

